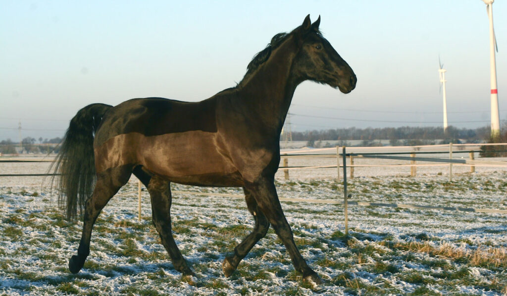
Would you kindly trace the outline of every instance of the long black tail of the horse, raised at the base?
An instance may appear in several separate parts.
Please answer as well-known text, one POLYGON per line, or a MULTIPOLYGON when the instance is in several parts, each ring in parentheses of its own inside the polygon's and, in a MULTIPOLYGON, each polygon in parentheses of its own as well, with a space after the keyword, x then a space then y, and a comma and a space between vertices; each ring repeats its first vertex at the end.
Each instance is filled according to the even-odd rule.
POLYGON ((50 168, 60 174, 56 182, 58 206, 69 220, 77 216, 78 207, 80 212, 84 209, 92 194, 95 185, 93 139, 102 116, 112 107, 91 104, 79 110, 70 120, 56 161, 50 168))

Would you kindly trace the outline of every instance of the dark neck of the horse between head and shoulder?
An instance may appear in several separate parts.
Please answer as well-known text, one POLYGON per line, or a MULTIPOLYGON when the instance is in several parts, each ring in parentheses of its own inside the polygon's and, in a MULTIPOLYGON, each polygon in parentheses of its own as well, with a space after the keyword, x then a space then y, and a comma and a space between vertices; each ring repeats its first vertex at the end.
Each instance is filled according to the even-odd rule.
POLYGON ((299 81, 291 68, 296 50, 292 40, 275 49, 269 59, 241 87, 245 104, 257 113, 262 123, 281 131, 288 108, 299 81))

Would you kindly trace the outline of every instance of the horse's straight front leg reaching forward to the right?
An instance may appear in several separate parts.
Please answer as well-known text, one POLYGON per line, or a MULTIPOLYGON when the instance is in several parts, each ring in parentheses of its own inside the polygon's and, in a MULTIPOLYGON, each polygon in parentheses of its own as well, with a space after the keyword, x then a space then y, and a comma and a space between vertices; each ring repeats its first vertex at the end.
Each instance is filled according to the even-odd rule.
POLYGON ((291 255, 296 271, 303 275, 303 280, 315 284, 322 283, 322 280, 307 264, 301 256, 296 244, 291 226, 283 214, 278 194, 274 184, 274 178, 260 178, 255 182, 245 182, 245 188, 252 193, 257 201, 259 209, 266 215, 268 221, 273 225, 276 234, 285 245, 291 255))

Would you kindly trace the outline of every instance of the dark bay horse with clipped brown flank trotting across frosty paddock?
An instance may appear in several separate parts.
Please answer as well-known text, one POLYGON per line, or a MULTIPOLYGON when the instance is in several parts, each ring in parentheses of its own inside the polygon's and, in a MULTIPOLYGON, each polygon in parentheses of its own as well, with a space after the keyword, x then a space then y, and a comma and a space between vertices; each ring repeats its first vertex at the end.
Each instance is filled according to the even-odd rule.
POLYGON ((83 268, 95 219, 134 174, 148 188, 153 223, 184 276, 194 273, 172 236, 170 182, 243 187, 255 227, 225 258, 226 276, 272 225, 303 279, 320 283, 294 243, 274 185, 280 132, 296 87, 312 80, 348 93, 356 84, 352 69, 320 34, 319 23, 320 17, 312 24, 308 15, 292 32, 275 35, 236 87, 204 101, 137 98, 81 109, 70 121, 54 166, 62 174, 59 204, 67 217, 84 210, 70 272, 83 268))

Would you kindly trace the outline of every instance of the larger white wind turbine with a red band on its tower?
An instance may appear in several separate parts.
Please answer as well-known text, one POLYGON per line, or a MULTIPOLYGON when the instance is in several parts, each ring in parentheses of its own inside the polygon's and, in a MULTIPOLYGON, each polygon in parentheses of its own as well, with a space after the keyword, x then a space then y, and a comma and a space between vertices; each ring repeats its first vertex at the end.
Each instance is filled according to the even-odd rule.
POLYGON ((498 139, 500 136, 500 114, 498 112, 498 90, 496 88, 496 61, 495 61, 495 48, 496 38, 495 30, 493 28, 493 2, 494 0, 482 0, 486 4, 486 10, 489 18, 489 44, 490 44, 490 58, 491 63, 491 138, 498 139))

